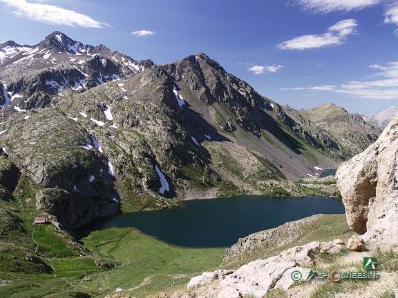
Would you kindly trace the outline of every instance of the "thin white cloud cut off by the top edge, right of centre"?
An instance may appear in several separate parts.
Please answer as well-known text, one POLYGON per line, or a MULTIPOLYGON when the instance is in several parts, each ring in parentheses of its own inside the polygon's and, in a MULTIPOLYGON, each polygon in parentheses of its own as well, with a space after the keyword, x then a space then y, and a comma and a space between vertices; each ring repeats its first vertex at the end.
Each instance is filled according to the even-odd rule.
POLYGON ((336 11, 349 12, 361 10, 381 3, 383 0, 292 0, 293 5, 301 6, 313 13, 329 13, 336 11))

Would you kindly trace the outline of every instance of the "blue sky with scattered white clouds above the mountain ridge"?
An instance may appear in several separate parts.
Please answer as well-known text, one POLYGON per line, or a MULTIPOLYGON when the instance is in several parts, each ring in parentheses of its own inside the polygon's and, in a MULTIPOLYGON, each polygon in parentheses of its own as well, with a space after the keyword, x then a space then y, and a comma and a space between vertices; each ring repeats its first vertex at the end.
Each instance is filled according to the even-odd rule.
POLYGON ((398 106, 397 0, 0 0, 0 43, 59 30, 165 64, 204 52, 294 108, 398 106))

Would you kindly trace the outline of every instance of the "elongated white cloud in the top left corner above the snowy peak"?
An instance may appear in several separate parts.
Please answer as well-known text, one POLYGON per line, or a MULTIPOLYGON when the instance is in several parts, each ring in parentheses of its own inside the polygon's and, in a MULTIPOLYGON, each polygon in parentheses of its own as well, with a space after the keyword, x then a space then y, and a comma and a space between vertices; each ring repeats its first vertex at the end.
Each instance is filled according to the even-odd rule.
POLYGON ((58 6, 28 3, 26 0, 0 0, 0 2, 10 7, 13 14, 41 23, 85 28, 104 28, 109 26, 106 23, 95 21, 85 14, 66 10, 58 6))

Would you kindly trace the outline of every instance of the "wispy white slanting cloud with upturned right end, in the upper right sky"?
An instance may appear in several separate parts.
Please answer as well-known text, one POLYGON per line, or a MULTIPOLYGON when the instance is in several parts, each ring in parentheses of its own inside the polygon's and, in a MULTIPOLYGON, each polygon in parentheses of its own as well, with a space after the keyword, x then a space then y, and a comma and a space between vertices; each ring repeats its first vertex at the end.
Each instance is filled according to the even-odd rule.
POLYGON ((355 34, 358 22, 354 19, 346 19, 335 23, 323 34, 303 35, 295 37, 278 45, 281 50, 305 50, 310 48, 322 48, 325 46, 337 46, 347 39, 348 35, 355 34))

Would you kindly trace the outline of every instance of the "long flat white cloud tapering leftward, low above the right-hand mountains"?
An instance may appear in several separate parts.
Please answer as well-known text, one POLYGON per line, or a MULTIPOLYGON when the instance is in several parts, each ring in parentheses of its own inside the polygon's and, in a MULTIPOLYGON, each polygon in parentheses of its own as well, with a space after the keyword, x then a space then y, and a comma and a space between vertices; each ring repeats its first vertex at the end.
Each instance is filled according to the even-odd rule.
POLYGON ((381 79, 373 81, 348 81, 339 86, 313 86, 283 88, 281 90, 329 91, 367 99, 398 99, 398 61, 386 63, 385 66, 373 64, 370 68, 381 70, 373 74, 381 79))

